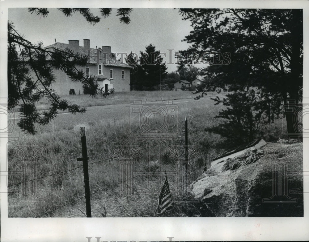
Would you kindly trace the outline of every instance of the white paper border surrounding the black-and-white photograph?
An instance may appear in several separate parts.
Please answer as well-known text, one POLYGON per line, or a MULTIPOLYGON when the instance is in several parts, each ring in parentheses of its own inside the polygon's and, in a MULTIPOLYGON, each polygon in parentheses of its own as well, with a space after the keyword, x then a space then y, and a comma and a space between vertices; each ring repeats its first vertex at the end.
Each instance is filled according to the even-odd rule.
MULTIPOLYGON (((8 1, 1 0, 1 97, 7 97, 7 16, 10 7, 132 7, 132 8, 302 8, 303 29, 309 30, 307 1, 8 1)), ((309 31, 304 31, 303 95, 309 95, 309 31)), ((6 123, 6 120, 1 120, 6 123)), ((308 123, 309 120, 303 120, 308 123)), ((7 139, 1 139, 1 167, 6 167, 7 139)), ((309 140, 303 141, 304 171, 309 171, 309 140)), ((2 169, 3 170, 3 169, 2 169)), ((1 191, 6 191, 1 176, 1 191)), ((304 176, 309 190, 309 176, 304 176)), ((309 240, 309 193, 304 217, 246 218, 7 218, 7 194, 1 193, 1 241, 212 241, 309 240), (170 237, 170 238, 169 238, 170 237)))

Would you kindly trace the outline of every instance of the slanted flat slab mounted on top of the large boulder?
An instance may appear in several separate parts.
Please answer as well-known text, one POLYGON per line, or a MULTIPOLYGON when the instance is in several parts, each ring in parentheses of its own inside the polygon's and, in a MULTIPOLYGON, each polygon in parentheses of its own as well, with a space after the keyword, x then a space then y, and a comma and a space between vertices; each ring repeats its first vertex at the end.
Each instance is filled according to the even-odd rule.
POLYGON ((213 166, 215 164, 218 164, 221 161, 226 160, 227 158, 234 158, 236 156, 239 156, 248 150, 254 150, 254 149, 258 150, 261 147, 263 147, 265 144, 266 142, 264 139, 257 139, 250 143, 246 143, 246 144, 231 148, 229 150, 223 151, 220 155, 218 155, 217 157, 213 159, 213 161, 211 162, 211 165, 213 166))

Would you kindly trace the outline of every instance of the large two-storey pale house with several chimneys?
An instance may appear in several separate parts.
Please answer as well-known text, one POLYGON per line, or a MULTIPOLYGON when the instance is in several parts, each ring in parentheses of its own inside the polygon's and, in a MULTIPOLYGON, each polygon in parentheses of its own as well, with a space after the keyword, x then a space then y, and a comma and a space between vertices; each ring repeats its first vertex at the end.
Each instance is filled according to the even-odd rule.
MULTIPOLYGON (((69 44, 57 42, 46 46, 51 48, 65 50, 69 48, 74 53, 88 56, 86 67, 76 66, 77 69, 84 71, 86 77, 90 75, 96 76, 99 87, 106 89, 114 88, 115 92, 130 91, 130 67, 128 64, 114 58, 111 46, 102 46, 99 48, 91 48, 90 40, 84 39, 84 46, 79 46, 79 40, 69 40, 69 44)), ((52 84, 51 89, 55 90, 58 95, 69 95, 70 90, 74 90, 76 94, 83 94, 83 84, 73 82, 70 78, 60 70, 54 70, 56 82, 52 84)))

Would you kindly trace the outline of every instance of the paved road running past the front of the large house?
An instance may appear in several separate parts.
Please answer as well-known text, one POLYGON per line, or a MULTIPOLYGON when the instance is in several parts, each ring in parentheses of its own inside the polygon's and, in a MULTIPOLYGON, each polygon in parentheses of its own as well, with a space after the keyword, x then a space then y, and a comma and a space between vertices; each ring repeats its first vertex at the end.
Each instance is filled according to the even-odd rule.
MULTIPOLYGON (((142 100, 142 104, 146 100, 142 100)), ((160 102, 154 102, 160 103, 160 102)), ((168 101, 163 101, 164 104, 168 104, 168 101)), ((183 110, 188 110, 192 107, 198 106, 208 106, 212 104, 213 101, 210 100, 210 96, 201 98, 200 100, 194 99, 178 99, 172 100, 172 104, 178 105, 179 112, 183 110)), ((137 104, 137 106, 142 106, 142 104, 137 104)), ((79 129, 81 126, 87 126, 87 124, 99 122, 99 121, 113 121, 113 120, 125 120, 129 121, 129 110, 130 105, 132 104, 114 104, 114 105, 105 105, 105 106, 94 106, 87 107, 87 111, 84 114, 77 113, 72 115, 71 113, 61 113, 48 125, 44 127, 38 127, 38 130, 60 130, 60 129, 79 129)), ((18 122, 19 118, 16 118, 17 115, 12 115, 11 118, 8 117, 8 122, 18 122)), ((14 127, 14 132, 18 131, 18 127, 14 127)))

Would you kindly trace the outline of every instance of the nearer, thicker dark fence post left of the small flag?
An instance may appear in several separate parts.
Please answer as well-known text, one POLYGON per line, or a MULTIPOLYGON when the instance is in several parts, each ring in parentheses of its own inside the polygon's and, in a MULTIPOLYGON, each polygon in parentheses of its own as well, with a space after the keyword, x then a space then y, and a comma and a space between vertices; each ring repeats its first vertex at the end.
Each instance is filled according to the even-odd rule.
POLYGON ((86 198, 86 216, 91 218, 91 204, 90 204, 90 187, 89 187, 89 172, 88 172, 88 156, 85 127, 80 128, 80 139, 82 143, 82 158, 77 158, 78 161, 83 161, 84 170, 84 184, 85 184, 85 198, 86 198))

